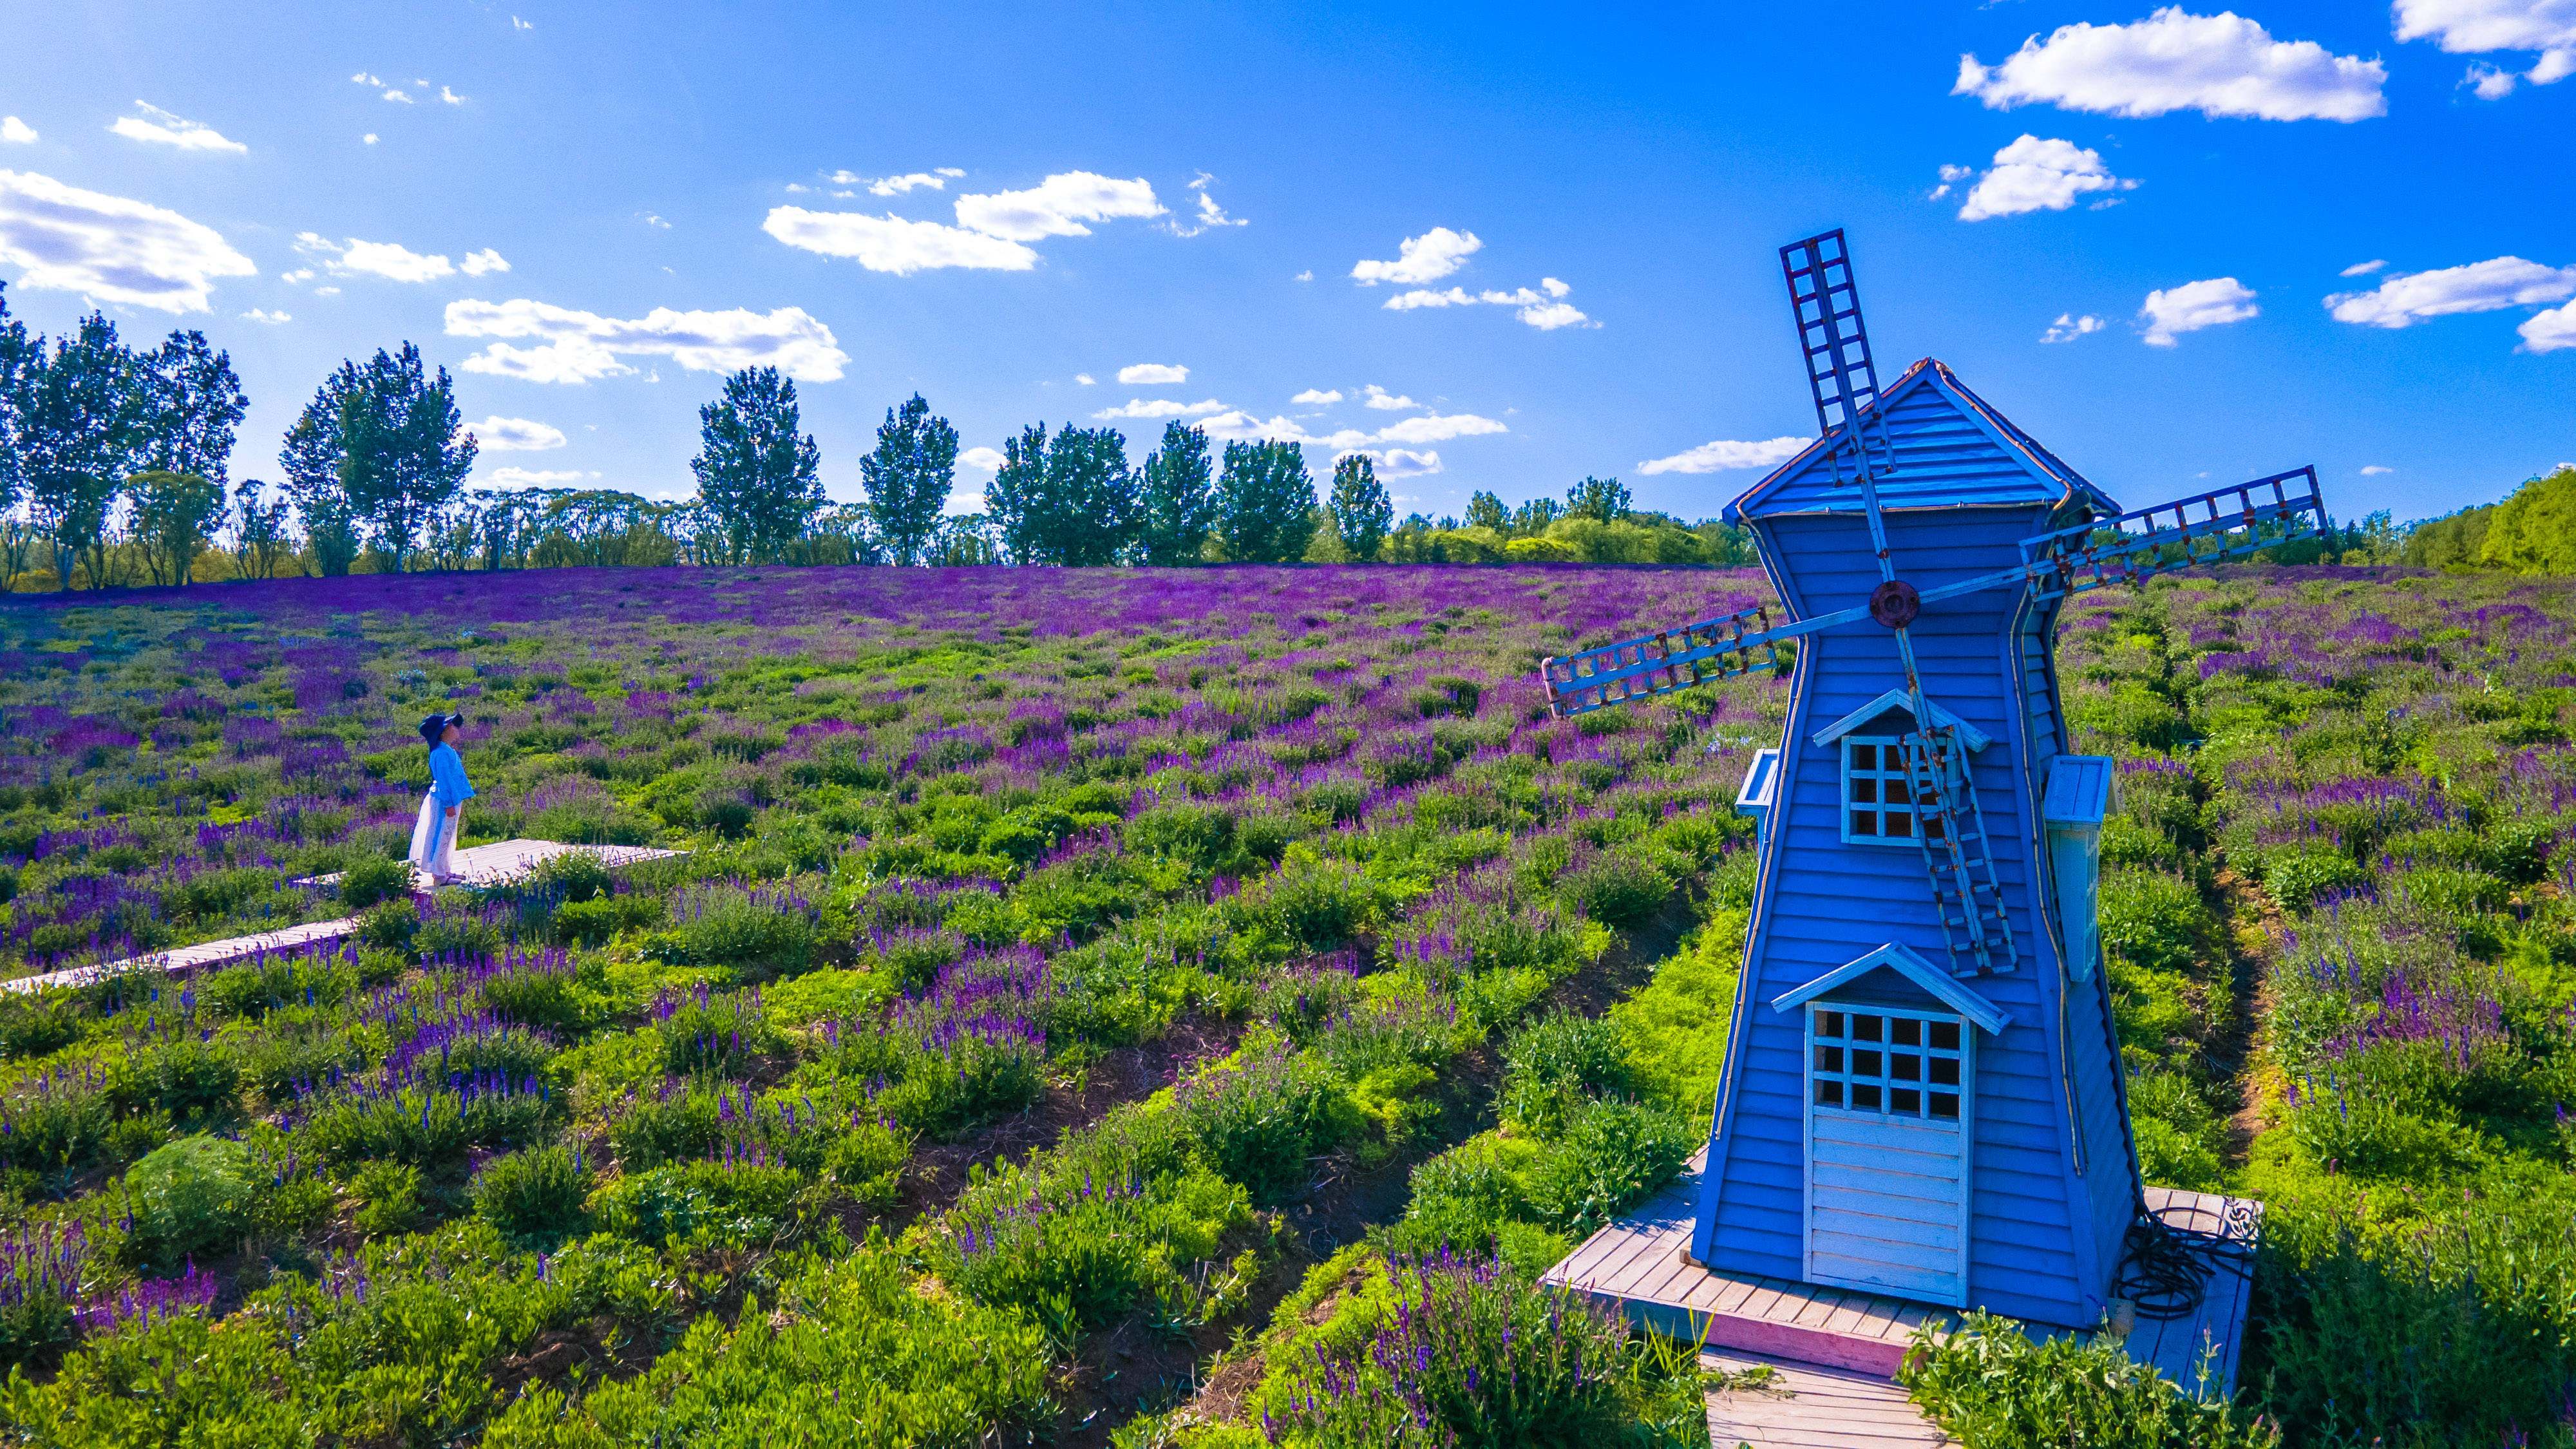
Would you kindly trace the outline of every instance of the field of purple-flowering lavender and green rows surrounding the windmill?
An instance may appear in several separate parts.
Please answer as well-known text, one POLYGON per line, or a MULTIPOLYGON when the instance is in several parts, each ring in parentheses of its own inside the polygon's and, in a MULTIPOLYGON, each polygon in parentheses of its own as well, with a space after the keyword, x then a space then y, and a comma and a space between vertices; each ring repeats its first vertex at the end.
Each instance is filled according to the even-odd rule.
MULTIPOLYGON (((1788 691, 1551 722, 1535 663, 1759 575, 90 598, 0 608, 0 972, 361 928, 0 1000, 13 1441, 1708 1441, 1687 1354, 1533 1279, 1705 1137, 1788 691), (466 846, 688 853, 410 895, 440 706, 466 846)), ((2071 606, 2141 1155, 2269 1227, 2233 1410, 2002 1397, 2571 1441, 2571 621, 2409 570, 2071 606)))

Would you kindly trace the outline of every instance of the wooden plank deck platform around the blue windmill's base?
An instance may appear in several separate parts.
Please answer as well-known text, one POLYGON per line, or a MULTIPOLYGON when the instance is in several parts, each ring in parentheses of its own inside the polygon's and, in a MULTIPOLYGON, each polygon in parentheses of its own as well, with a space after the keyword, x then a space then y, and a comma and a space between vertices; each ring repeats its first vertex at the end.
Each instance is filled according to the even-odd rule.
MULTIPOLYGON (((1628 1217, 1587 1238, 1566 1261, 1543 1274, 1600 1305, 1618 1305, 1633 1323, 1672 1338, 1698 1338, 1710 1366, 1772 1364, 1790 1385, 1780 1392, 1710 1395, 1710 1434, 1718 1449, 1744 1444, 1798 1444, 1816 1449, 1873 1449, 1942 1444, 1891 1379, 1924 1323, 1935 1333, 1958 1323, 1945 1307, 1893 1297, 1826 1289, 1788 1279, 1721 1274, 1682 1258, 1700 1199, 1703 1150, 1682 1178, 1628 1217), (1795 1390, 1806 1382, 1808 1390, 1795 1390)), ((2146 1204, 2177 1227, 2251 1235, 2262 1204, 2146 1189, 2146 1204)), ((2125 1348, 2184 1390, 2231 1395, 2251 1284, 2221 1271, 2192 1318, 2136 1320, 2125 1348), (2200 1385, 2202 1346, 2215 1343, 2210 1382, 2200 1385)), ((2043 1338, 2063 1328, 2030 1328, 2043 1338)))

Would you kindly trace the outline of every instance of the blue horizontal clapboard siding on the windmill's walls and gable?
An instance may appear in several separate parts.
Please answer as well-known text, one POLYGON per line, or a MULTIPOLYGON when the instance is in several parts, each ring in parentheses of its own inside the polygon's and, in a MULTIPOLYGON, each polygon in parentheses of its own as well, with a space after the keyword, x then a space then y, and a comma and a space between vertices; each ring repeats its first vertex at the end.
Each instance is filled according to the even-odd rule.
MULTIPOLYGON (((1891 508, 1888 554, 1896 575, 1922 590, 2022 562, 2020 541, 2063 518, 2069 503, 2115 508, 1937 364, 1909 369, 1886 407, 1901 464, 1880 492, 1891 508)), ((1795 614, 1850 608, 1880 583, 1857 508, 1857 490, 1837 492, 1816 454, 1741 500, 1765 570, 1795 614)), ((2053 627, 2053 606, 2032 606, 2025 588, 2009 585, 1937 601, 1909 629, 1924 694, 1994 740, 1968 771, 2017 962, 1968 982, 2009 1024, 2002 1036, 1976 1034, 1973 1106, 1960 1134, 1963 1297, 1935 1292, 1932 1279, 1886 1292, 2087 1325, 2102 1312, 2138 1186, 2107 995, 2099 977, 2063 977, 2038 848, 2043 771, 2066 750, 2048 657, 2053 627)), ((1692 1248, 1726 1271, 1883 1284, 1891 1271, 1937 1271, 1924 1250, 1940 1243, 1927 1232, 1960 1227, 1896 1186, 1878 1194, 1875 1209, 1834 1196, 1868 1196, 1868 1178, 1850 1176, 1868 1163, 1832 1160, 1832 1142, 1819 1147, 1824 1158, 1811 1155, 1806 1024, 1798 1011, 1770 1008, 1775 995, 1886 941, 1950 962, 1922 851, 1842 841, 1842 753, 1811 743, 1819 724, 1901 686, 1896 639, 1875 624, 1801 642, 1692 1248), (1819 1168, 1829 1176, 1811 1178, 1819 1168), (1811 1222, 1816 1207, 1821 1227, 1811 1222)), ((1896 712, 1862 732, 1896 732, 1901 722, 1896 712)))

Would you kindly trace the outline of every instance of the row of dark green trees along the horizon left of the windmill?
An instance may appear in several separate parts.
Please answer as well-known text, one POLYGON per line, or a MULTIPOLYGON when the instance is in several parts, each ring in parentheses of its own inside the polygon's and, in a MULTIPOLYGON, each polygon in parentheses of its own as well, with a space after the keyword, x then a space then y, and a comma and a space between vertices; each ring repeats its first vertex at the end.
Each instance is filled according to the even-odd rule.
POLYGON ((1618 480, 1466 518, 1396 521, 1376 462, 1321 495, 1291 441, 1170 423, 1144 464, 1115 428, 1023 428, 979 513, 951 516, 958 433, 914 394, 832 503, 796 382, 755 366, 698 410, 698 492, 479 490, 446 369, 402 343, 343 361, 286 431, 281 482, 232 480, 250 400, 204 333, 129 345, 93 312, 44 338, 0 284, 0 588, 572 565, 1749 562, 1721 523, 1641 513, 1618 480), (49 575, 49 578, 46 578, 49 575))

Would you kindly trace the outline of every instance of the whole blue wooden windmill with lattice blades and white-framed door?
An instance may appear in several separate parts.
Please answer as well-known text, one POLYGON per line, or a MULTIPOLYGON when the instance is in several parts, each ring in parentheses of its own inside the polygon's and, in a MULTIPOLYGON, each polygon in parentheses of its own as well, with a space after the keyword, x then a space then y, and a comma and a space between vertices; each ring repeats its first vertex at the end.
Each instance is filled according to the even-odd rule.
POLYGON ((2071 593, 2324 526, 2316 469, 2136 513, 1924 358, 1878 384, 1842 232, 1780 248, 1819 441, 1726 508, 1783 606, 1546 660, 1556 714, 1788 665, 1690 1256, 2097 1323, 2143 1214, 2097 835, 2050 632, 2071 593))

